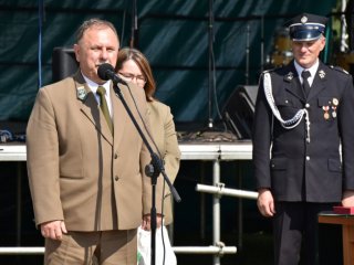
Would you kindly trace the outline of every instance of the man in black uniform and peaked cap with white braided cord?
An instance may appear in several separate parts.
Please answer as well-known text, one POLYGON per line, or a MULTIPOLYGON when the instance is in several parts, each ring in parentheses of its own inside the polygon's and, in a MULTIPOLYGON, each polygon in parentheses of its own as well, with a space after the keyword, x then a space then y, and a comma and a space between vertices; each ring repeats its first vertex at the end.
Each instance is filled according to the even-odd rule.
POLYGON ((353 81, 319 60, 325 23, 308 13, 289 21, 294 60, 260 80, 253 121, 257 204, 273 219, 275 264, 299 264, 301 245, 302 263, 316 264, 317 213, 341 202, 354 206, 353 81))

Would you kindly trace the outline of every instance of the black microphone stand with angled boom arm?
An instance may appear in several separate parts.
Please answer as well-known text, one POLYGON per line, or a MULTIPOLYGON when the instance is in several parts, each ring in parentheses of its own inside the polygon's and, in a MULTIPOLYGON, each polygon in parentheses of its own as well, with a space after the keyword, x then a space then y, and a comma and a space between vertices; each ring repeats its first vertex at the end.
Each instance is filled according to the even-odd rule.
MULTIPOLYGON (((127 86, 128 86, 128 84, 127 84, 127 86)), ((157 183, 157 178, 160 173, 164 176, 164 180, 167 182, 167 184, 170 189, 170 192, 171 192, 176 202, 180 202, 180 197, 179 197, 177 190, 175 189, 175 187, 173 186, 173 183, 170 182, 170 180, 168 179, 160 158, 157 156, 156 152, 154 152, 152 146, 147 141, 144 132, 142 131, 139 125, 137 124, 135 117, 133 116, 132 110, 129 109, 128 105, 126 104, 126 102, 123 97, 123 94, 121 92, 121 88, 118 87, 116 82, 113 82, 113 88, 114 88, 115 95, 121 99, 125 110, 127 112, 131 120, 133 121, 135 128, 137 129, 139 136, 143 139, 143 142, 147 147, 147 149, 150 153, 150 157, 152 157, 150 163, 145 167, 145 173, 152 178, 152 210, 150 210, 152 259, 150 259, 150 264, 155 265, 155 262, 156 262, 156 258, 155 258, 155 254, 156 254, 156 215, 157 215, 156 214, 156 183, 157 183)))

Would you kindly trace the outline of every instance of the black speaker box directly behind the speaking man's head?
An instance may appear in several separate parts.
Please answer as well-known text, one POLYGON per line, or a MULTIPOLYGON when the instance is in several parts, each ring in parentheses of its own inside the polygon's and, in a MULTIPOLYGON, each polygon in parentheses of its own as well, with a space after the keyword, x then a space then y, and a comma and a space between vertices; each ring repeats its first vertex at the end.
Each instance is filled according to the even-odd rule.
POLYGON ((75 52, 71 47, 54 47, 52 53, 52 80, 61 81, 73 75, 79 67, 75 52))

